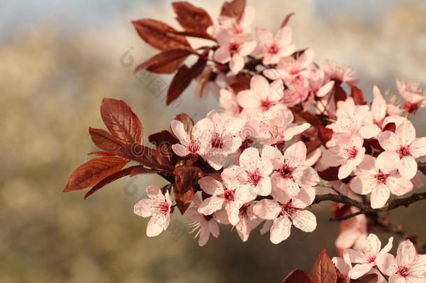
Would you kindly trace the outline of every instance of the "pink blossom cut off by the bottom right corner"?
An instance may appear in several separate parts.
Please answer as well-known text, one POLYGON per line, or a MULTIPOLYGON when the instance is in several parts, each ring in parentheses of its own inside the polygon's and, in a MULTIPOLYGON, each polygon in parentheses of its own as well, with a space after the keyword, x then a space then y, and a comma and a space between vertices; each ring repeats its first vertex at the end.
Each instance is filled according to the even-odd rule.
POLYGON ((410 240, 399 244, 396 258, 382 253, 376 263, 382 273, 390 276, 389 283, 426 282, 426 254, 417 254, 410 240))

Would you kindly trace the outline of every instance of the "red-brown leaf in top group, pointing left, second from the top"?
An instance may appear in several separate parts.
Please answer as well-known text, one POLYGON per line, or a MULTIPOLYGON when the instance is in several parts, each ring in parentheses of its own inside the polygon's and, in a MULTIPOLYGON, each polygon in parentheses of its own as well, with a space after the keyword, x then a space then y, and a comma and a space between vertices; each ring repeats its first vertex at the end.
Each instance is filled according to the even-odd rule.
POLYGON ((139 36, 158 50, 191 49, 184 36, 173 34, 176 30, 164 22, 152 19, 133 21, 139 36))

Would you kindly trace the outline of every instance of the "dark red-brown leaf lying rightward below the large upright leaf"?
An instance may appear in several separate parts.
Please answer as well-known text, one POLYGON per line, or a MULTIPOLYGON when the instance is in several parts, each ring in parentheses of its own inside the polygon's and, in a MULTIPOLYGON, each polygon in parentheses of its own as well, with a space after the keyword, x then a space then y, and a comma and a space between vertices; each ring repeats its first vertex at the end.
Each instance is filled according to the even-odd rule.
POLYGON ((117 156, 129 159, 153 169, 170 170, 172 165, 160 152, 145 145, 123 145, 117 152, 117 156))

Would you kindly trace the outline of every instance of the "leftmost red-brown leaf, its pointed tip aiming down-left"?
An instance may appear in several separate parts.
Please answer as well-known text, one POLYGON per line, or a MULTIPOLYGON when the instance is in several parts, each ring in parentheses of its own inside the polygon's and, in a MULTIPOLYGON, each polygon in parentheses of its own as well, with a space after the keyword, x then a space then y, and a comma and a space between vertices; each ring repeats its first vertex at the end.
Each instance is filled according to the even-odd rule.
POLYGON ((119 157, 91 159, 71 173, 63 192, 78 191, 94 186, 105 177, 121 170, 127 162, 128 160, 119 157))

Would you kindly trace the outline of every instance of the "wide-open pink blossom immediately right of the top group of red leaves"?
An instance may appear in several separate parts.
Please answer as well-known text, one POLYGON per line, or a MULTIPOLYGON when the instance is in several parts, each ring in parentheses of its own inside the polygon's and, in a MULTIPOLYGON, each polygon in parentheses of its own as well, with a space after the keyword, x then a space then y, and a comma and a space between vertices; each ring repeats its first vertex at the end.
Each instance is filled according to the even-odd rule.
POLYGON ((244 56, 256 48, 256 41, 247 41, 242 36, 232 35, 223 29, 217 36, 219 48, 214 52, 214 60, 221 64, 229 63, 230 71, 239 73, 244 68, 244 56))

